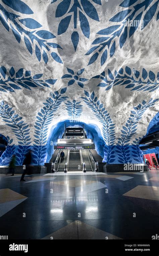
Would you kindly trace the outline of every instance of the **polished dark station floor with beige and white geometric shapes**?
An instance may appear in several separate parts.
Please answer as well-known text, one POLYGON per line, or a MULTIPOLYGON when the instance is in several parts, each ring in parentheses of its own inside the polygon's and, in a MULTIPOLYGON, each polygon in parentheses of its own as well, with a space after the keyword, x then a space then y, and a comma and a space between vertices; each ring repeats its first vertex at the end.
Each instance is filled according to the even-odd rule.
POLYGON ((159 169, 0 174, 0 235, 8 239, 152 239, 159 233, 159 169))

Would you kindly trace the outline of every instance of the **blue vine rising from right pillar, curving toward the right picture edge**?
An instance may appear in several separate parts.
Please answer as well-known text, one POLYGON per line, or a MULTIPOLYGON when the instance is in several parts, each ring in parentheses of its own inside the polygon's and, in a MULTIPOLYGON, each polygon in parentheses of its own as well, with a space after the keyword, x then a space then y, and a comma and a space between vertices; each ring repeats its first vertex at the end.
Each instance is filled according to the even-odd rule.
MULTIPOLYGON (((131 163, 130 160, 130 139, 136 134, 137 125, 139 121, 142 119, 145 111, 149 109, 150 107, 155 105, 155 102, 157 102, 159 99, 150 99, 148 103, 146 103, 145 100, 143 100, 142 104, 139 104, 137 107, 134 107, 133 110, 131 110, 130 117, 128 118, 125 126, 122 127, 121 130, 121 138, 118 138, 118 143, 116 144, 116 152, 118 155, 118 161, 119 163, 131 163)), ((139 138, 140 139, 140 138, 139 138)), ((137 145, 139 143, 139 140, 133 141, 131 145, 137 145)), ((141 152, 140 148, 133 146, 133 157, 135 161, 139 161, 141 158, 141 152)))

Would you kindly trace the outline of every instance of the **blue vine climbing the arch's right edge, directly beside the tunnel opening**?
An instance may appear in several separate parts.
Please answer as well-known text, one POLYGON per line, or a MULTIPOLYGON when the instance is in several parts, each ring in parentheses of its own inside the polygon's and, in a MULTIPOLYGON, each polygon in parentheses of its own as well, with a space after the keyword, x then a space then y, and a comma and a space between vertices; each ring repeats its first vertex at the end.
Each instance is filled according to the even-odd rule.
POLYGON ((84 92, 86 97, 81 98, 91 108, 94 115, 103 125, 102 133, 106 143, 104 146, 104 161, 107 163, 112 163, 115 161, 115 151, 113 150, 115 143, 115 124, 113 124, 108 111, 105 110, 105 107, 103 107, 103 103, 101 103, 97 97, 95 97, 94 91, 91 95, 87 91, 84 92))

